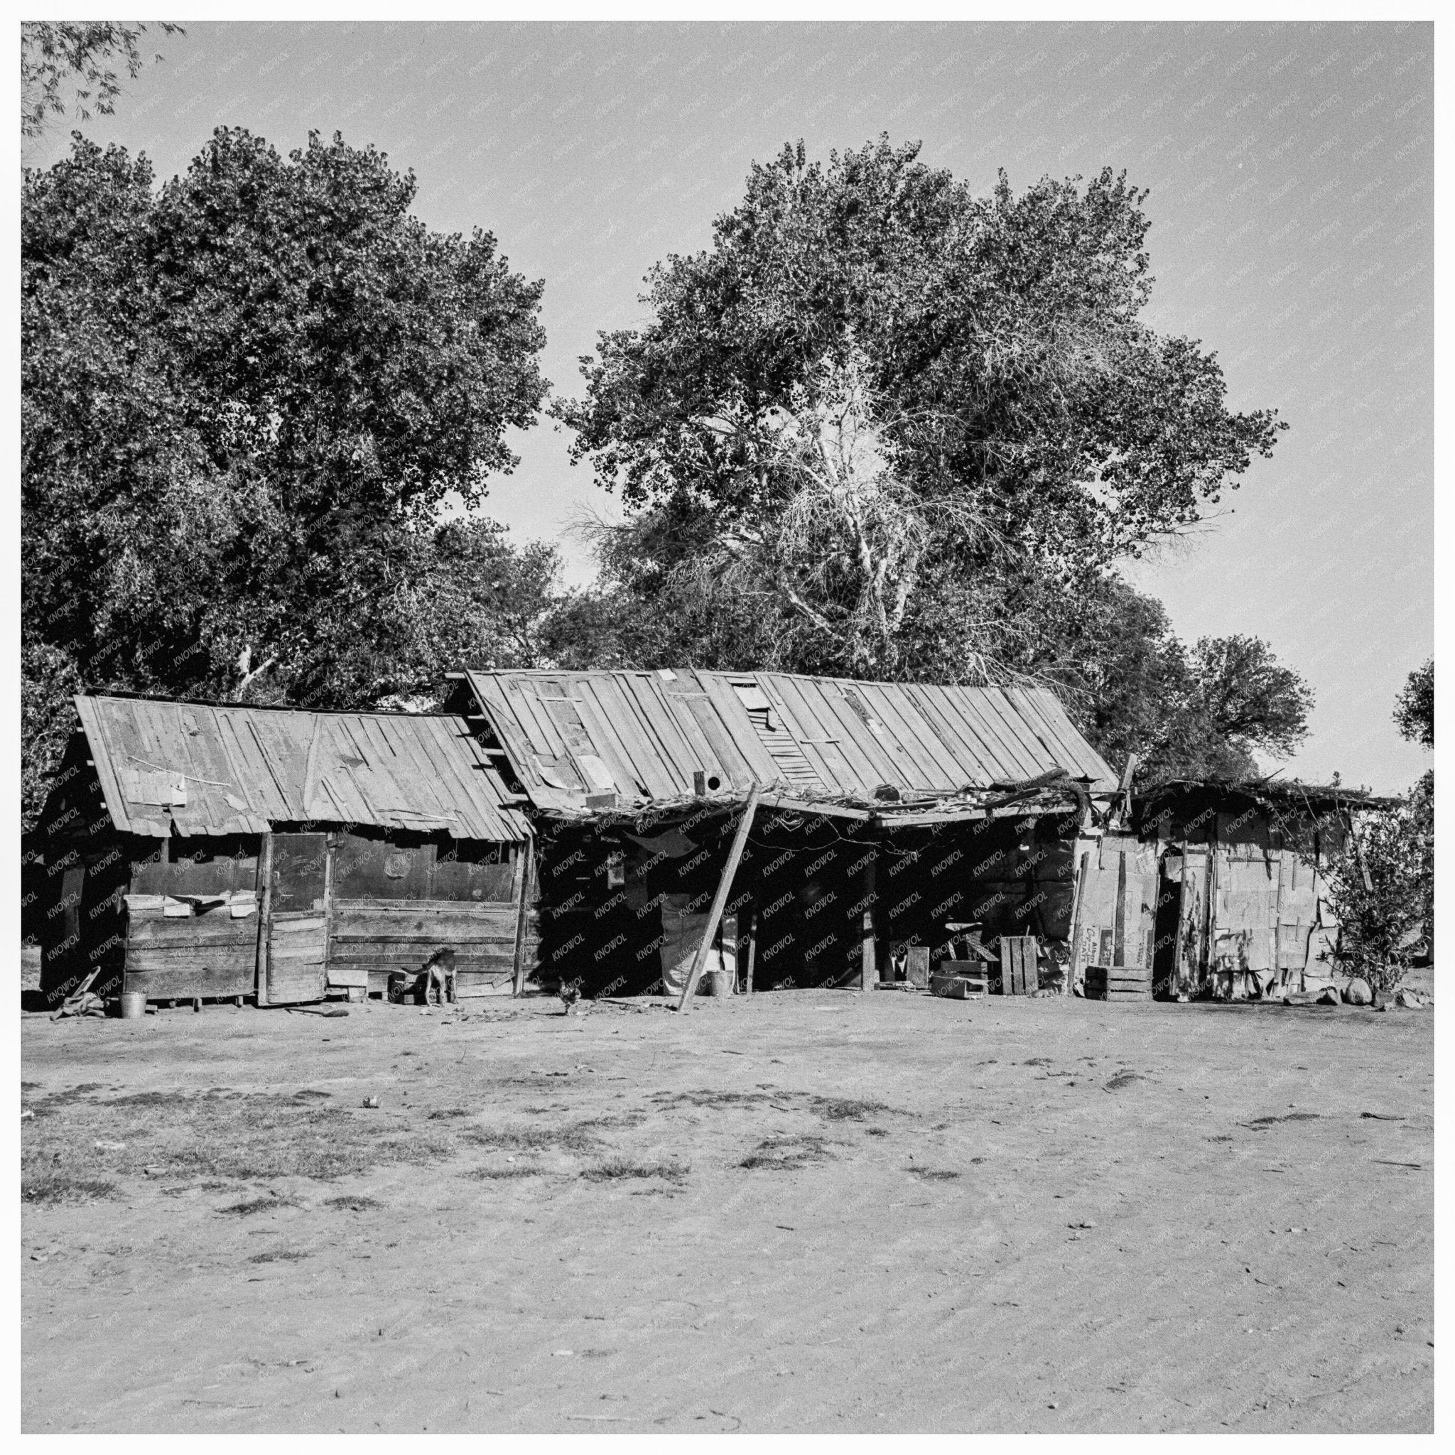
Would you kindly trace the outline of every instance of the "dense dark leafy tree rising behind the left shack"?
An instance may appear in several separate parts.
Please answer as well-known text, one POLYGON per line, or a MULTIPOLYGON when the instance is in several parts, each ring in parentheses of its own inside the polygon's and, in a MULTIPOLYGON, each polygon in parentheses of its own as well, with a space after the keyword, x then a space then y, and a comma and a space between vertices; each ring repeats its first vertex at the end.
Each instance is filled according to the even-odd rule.
POLYGON ((454 601, 453 570, 490 595, 499 534, 436 519, 479 506, 515 463, 508 426, 535 418, 541 285, 487 233, 429 231, 413 195, 338 135, 282 157, 220 129, 160 189, 144 157, 79 135, 26 172, 38 701, 79 678, 361 706, 434 669, 412 617, 454 601))

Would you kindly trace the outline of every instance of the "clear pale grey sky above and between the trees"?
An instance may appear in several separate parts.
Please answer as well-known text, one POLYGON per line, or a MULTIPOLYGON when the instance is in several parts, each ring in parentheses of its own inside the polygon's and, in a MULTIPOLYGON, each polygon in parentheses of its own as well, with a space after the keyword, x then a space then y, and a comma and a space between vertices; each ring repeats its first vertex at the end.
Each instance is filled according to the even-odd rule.
MULTIPOLYGON (((1318 694, 1285 767, 1406 787, 1390 720, 1433 643, 1433 31, 1414 25, 191 25, 97 141, 182 170, 218 125, 374 143, 432 227, 546 279, 546 372, 579 387, 642 275, 707 246, 752 160, 888 131, 989 188, 1125 169, 1151 189, 1149 322, 1202 339, 1235 407, 1289 422, 1196 540, 1132 563, 1177 630, 1272 642, 1318 694)), ((60 156, 71 121, 26 147, 60 156)), ((567 436, 515 441, 492 514, 562 538, 611 512, 567 436)), ((562 540, 570 576, 589 576, 562 540)))

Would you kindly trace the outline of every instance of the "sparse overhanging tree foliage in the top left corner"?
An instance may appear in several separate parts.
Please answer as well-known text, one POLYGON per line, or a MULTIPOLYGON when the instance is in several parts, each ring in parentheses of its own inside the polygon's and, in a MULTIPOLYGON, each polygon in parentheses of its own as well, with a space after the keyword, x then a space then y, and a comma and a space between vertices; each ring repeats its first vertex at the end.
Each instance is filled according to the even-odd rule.
MULTIPOLYGON (((160 22, 160 29, 163 35, 186 33, 167 20, 160 22)), ((146 31, 140 20, 22 20, 20 134, 38 137, 51 116, 65 115, 67 84, 81 121, 90 119, 92 108, 109 116, 121 95, 115 64, 132 80, 141 74, 146 31)))

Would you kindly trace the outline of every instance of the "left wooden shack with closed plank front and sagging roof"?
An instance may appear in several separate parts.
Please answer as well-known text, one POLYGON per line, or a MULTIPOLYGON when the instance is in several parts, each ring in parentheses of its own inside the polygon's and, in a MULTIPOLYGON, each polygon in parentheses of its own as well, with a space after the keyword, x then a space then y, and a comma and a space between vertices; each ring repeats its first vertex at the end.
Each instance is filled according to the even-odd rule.
POLYGON ((522 984, 531 829, 458 714, 77 697, 29 837, 41 988, 148 1001, 383 994, 436 949, 522 984))

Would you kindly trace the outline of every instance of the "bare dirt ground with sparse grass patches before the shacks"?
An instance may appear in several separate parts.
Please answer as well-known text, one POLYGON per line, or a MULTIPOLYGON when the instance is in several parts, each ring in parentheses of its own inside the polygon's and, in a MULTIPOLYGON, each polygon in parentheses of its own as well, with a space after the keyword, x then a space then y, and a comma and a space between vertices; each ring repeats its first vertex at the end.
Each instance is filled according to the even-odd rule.
POLYGON ((1427 1010, 208 1007, 23 1075, 26 1430, 1433 1429, 1427 1010))

